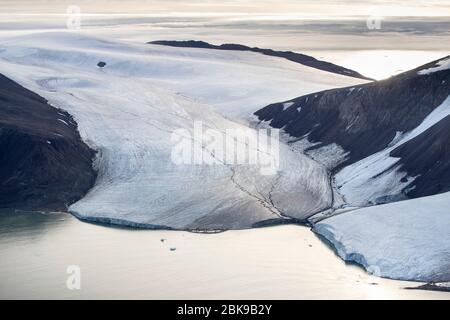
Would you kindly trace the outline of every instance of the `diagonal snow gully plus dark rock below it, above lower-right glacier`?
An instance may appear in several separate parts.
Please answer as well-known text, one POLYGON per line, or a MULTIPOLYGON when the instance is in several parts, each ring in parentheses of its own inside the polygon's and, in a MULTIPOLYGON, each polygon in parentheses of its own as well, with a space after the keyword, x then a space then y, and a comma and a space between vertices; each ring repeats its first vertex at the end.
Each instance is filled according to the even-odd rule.
POLYGON ((448 192, 449 123, 450 96, 397 142, 338 172, 340 192, 357 206, 448 192))

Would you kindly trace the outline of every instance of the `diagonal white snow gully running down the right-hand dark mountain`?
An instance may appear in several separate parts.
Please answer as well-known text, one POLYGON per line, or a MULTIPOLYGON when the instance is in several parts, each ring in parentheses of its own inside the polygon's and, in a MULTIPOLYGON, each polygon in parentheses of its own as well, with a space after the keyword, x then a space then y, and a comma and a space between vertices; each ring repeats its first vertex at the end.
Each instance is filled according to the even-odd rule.
POLYGON ((379 197, 395 196, 412 183, 415 177, 409 177, 407 182, 400 182, 406 173, 399 172, 395 164, 400 159, 390 157, 390 152, 425 132, 448 115, 450 115, 450 97, 428 115, 417 128, 404 134, 397 134, 388 148, 341 170, 336 175, 336 184, 340 187, 340 193, 345 197, 346 202, 354 206, 366 206, 376 203, 379 197), (394 166, 393 169, 388 170, 392 166, 394 166))

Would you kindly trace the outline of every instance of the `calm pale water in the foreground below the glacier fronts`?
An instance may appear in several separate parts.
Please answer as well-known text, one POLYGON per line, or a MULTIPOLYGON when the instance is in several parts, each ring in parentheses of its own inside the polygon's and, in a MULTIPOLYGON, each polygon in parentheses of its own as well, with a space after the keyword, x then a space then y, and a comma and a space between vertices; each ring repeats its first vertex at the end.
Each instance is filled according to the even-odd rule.
POLYGON ((300 226, 200 235, 0 214, 2 299, 450 299, 403 289, 415 285, 344 264, 300 226), (69 265, 81 290, 66 287, 69 265))

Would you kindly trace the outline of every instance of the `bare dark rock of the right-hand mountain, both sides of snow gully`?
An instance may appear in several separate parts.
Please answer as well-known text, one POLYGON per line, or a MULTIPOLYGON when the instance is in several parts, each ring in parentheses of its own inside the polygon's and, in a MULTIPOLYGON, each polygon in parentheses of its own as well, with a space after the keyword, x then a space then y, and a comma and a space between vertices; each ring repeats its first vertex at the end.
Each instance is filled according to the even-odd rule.
MULTIPOLYGON (((397 132, 419 126, 450 96, 450 70, 418 74, 438 61, 384 81, 303 96, 286 109, 275 103, 255 114, 294 137, 308 135, 319 143, 313 148, 336 143, 349 151, 333 169, 337 172, 388 147, 397 132)), ((445 118, 391 153, 401 158, 400 170, 420 175, 410 185, 414 188, 408 188, 408 197, 450 191, 449 141, 450 119, 445 118)))

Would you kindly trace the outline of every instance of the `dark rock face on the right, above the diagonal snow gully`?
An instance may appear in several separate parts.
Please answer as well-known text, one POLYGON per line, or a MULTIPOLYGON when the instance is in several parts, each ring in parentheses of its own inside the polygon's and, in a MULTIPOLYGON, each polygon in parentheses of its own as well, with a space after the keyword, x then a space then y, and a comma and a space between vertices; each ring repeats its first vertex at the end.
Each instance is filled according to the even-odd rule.
MULTIPOLYGON (((450 71, 418 75, 428 64, 388 80, 310 94, 269 105, 255 114, 294 137, 337 143, 349 165, 386 148, 397 132, 417 127, 450 95, 450 71)), ((319 147, 319 146, 317 146, 319 147)))

